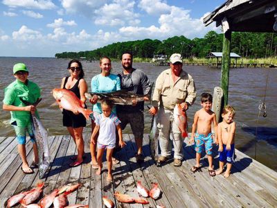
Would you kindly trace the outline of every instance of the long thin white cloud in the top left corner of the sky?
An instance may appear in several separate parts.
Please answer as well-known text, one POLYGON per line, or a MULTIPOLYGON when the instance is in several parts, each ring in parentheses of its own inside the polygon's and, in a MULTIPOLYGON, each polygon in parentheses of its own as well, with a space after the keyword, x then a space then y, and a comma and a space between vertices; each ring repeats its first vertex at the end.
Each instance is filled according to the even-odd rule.
POLYGON ((51 0, 3 0, 2 3, 12 8, 24 7, 39 10, 51 10, 56 7, 51 0))

